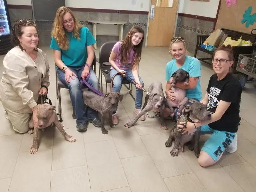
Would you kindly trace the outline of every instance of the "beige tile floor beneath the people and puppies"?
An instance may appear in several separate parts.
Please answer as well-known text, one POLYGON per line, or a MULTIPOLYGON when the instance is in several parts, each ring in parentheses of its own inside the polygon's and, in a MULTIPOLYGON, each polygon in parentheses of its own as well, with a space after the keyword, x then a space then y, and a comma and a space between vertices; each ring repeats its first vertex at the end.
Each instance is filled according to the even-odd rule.
MULTIPOLYGON (((56 99, 55 69, 52 51, 47 53, 51 66, 49 98, 56 99)), ((96 50, 96 55, 98 51, 96 50)), ((2 63, 4 56, 0 56, 2 63)), ((148 88, 160 81, 165 87, 165 65, 170 60, 167 47, 145 47, 140 75, 148 88)), ((97 64, 98 68, 98 64, 97 64)), ((3 68, 0 65, 0 73, 3 68)), ((203 94, 213 70, 202 66, 203 94)), ((103 88, 104 88, 103 84, 103 88)), ((135 117, 134 101, 122 88, 119 125, 103 135, 89 124, 85 133, 76 130, 68 90, 62 89, 63 125, 77 141, 69 143, 54 127, 40 133, 39 151, 28 150, 33 136, 17 134, 4 116, 0 105, 0 191, 1 192, 165 192, 165 191, 256 191, 256 84, 249 83, 241 101, 242 122, 238 130, 238 150, 225 153, 214 166, 203 168, 193 152, 173 158, 164 146, 169 131, 161 129, 158 119, 139 121, 130 129, 124 123, 135 117)), ((167 122, 172 126, 172 122, 167 122)), ((200 145, 207 139, 203 135, 200 145)))

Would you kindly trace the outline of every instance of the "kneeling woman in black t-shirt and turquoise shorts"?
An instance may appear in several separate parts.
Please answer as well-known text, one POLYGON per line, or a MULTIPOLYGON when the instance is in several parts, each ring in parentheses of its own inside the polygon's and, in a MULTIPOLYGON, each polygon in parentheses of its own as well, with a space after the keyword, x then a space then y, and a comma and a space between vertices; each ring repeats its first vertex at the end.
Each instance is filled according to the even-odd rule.
MULTIPOLYGON (((237 130, 240 123, 239 108, 242 88, 230 72, 234 64, 231 46, 222 45, 212 55, 211 76, 207 92, 201 103, 207 105, 211 119, 199 123, 187 122, 185 132, 201 126, 201 134, 212 134, 201 148, 198 163, 207 167, 215 164, 224 150, 233 153, 237 150, 237 130)), ((178 127, 183 128, 181 122, 178 127)))

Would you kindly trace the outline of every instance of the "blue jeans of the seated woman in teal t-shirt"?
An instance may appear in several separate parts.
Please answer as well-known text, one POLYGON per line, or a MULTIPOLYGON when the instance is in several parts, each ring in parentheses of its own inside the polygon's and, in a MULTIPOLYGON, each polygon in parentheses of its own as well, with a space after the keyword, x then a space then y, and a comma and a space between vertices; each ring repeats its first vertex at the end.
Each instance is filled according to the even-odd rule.
MULTIPOLYGON (((82 88, 81 83, 79 81, 82 71, 84 70, 84 66, 77 67, 69 67, 69 69, 76 74, 77 77, 73 76, 74 80, 70 78, 70 82, 65 81, 65 73, 57 69, 59 80, 69 88, 69 95, 73 105, 73 109, 75 110, 75 114, 77 117, 76 124, 84 124, 88 119, 98 118, 98 112, 87 107, 85 108, 83 96, 82 96, 82 88)), ((99 90, 100 85, 98 82, 98 78, 95 72, 90 70, 91 76, 88 80, 88 83, 95 89, 99 90)))

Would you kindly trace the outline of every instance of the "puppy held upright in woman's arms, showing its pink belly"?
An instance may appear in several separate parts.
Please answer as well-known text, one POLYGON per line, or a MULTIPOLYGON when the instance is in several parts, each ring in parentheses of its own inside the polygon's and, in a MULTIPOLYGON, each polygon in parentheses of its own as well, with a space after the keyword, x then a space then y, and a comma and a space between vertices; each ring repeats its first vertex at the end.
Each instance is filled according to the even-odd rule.
POLYGON ((165 100, 165 105, 168 106, 171 110, 171 114, 169 114, 171 117, 174 115, 174 109, 173 107, 177 107, 178 109, 178 115, 181 114, 181 110, 187 105, 187 97, 186 96, 186 90, 180 89, 175 87, 175 84, 177 82, 184 82, 184 85, 189 84, 189 74, 183 69, 178 69, 172 74, 173 80, 171 82, 172 88, 171 90, 174 92, 175 100, 171 101, 170 99, 165 100))

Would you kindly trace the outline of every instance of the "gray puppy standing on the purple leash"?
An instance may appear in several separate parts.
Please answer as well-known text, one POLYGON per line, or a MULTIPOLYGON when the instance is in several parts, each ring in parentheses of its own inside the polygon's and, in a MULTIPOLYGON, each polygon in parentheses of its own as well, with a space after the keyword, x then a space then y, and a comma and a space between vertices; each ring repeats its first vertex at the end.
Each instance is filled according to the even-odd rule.
POLYGON ((91 91, 83 91, 84 103, 90 108, 100 112, 101 114, 101 132, 108 134, 105 129, 105 116, 108 115, 108 123, 110 127, 115 127, 112 123, 112 114, 114 107, 117 106, 119 101, 123 100, 123 95, 117 92, 105 94, 104 97, 95 94, 91 91))

